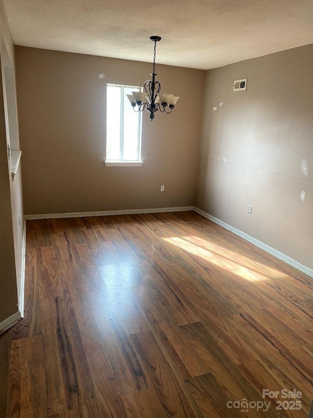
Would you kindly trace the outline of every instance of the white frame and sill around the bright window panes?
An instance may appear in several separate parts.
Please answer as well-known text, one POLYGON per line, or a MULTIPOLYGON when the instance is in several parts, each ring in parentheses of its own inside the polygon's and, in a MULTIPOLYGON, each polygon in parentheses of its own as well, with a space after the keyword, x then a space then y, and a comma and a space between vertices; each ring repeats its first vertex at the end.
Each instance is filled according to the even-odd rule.
MULTIPOLYGON (((141 131, 142 131, 142 116, 141 112, 138 112, 138 154, 137 160, 124 160, 124 101, 125 101, 125 88, 131 89, 140 89, 139 91, 142 92, 142 87, 140 86, 127 86, 125 84, 112 84, 108 83, 107 87, 119 87, 121 93, 120 99, 120 160, 105 160, 106 166, 141 166, 143 161, 141 161, 141 131)), ((131 103, 129 103, 131 106, 131 103)), ((106 147, 106 156, 107 156, 107 147, 106 147)))

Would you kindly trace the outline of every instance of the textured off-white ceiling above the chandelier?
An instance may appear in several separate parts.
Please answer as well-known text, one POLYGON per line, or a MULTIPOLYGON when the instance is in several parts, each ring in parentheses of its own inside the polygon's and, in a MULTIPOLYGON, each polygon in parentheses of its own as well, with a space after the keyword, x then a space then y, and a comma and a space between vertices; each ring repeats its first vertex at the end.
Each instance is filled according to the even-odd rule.
POLYGON ((313 43, 312 0, 4 0, 16 45, 208 70, 313 43))

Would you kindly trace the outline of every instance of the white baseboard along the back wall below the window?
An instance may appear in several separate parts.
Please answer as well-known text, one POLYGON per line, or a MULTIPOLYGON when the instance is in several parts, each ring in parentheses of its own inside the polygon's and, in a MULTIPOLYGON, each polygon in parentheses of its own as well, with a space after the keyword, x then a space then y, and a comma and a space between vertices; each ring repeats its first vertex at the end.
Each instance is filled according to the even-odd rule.
POLYGON ((194 206, 179 206, 177 208, 154 208, 154 209, 125 209, 125 210, 103 210, 100 212, 70 212, 70 213, 45 213, 39 215, 25 215, 26 220, 51 219, 51 218, 82 218, 84 216, 109 216, 109 215, 133 215, 136 213, 158 213, 158 212, 182 212, 194 210, 194 206))

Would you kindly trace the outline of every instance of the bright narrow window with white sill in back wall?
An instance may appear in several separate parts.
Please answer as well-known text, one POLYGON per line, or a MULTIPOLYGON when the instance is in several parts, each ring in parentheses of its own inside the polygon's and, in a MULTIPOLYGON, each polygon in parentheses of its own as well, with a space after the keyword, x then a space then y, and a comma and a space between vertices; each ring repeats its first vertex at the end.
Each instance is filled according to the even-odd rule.
POLYGON ((142 165, 141 112, 134 112, 126 94, 141 87, 107 84, 106 165, 142 165))

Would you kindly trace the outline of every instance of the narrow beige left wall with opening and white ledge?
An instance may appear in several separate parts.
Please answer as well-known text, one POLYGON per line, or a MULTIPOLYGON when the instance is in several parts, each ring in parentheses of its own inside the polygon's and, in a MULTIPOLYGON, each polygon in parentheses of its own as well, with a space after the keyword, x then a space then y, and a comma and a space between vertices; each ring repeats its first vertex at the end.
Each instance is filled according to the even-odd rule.
MULTIPOLYGON (((11 178, 11 161, 8 160, 7 145, 10 143, 8 129, 7 94, 15 95, 12 84, 5 83, 5 68, 14 74, 14 46, 7 23, 3 3, 0 1, 0 322, 18 311, 18 293, 22 270, 22 179, 21 169, 14 179, 11 178)), ((18 130, 14 132, 18 137, 18 130)), ((18 144, 18 138, 16 138, 18 144)))

